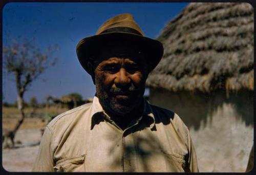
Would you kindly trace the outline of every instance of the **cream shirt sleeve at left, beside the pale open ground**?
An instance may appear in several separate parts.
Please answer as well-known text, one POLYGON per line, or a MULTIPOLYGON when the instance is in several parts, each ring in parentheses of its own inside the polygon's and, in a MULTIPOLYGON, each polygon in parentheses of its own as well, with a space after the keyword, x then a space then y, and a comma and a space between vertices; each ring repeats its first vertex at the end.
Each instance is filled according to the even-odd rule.
POLYGON ((52 132, 48 126, 46 126, 44 135, 42 135, 39 151, 34 162, 32 171, 44 171, 53 172, 53 152, 51 151, 51 138, 52 132))

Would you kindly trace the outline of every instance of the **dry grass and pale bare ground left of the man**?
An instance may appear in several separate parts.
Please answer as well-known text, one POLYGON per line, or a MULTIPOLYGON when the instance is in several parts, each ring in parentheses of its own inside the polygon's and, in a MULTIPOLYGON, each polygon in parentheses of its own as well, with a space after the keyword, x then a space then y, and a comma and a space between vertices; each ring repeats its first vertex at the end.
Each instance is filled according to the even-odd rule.
MULTIPOLYGON (((65 111, 68 111, 68 108, 56 108, 54 106, 48 109, 37 108, 34 116, 28 117, 31 116, 32 108, 25 108, 27 117, 14 138, 15 147, 2 150, 4 169, 11 172, 31 171, 41 139, 40 129, 44 129, 47 124, 42 119, 47 119, 46 114, 56 116, 65 111)), ((12 130, 19 118, 20 115, 16 107, 3 107, 2 128, 12 130)))

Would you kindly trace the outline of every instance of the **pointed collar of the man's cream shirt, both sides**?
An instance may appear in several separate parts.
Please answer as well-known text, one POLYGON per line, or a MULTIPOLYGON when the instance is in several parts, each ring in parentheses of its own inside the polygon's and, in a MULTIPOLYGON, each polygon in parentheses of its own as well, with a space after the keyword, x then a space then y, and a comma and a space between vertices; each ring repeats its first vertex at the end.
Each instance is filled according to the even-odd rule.
MULTIPOLYGON (((106 117, 110 120, 110 117, 104 112, 98 97, 94 96, 92 102, 92 110, 91 110, 91 129, 93 129, 94 125, 96 124, 96 120, 99 119, 98 117, 106 117)), ((147 100, 144 99, 144 109, 143 109, 143 117, 147 117, 151 120, 150 128, 153 129, 155 126, 155 116, 153 114, 152 108, 147 100)), ((138 119, 138 122, 141 120, 142 116, 138 119)))

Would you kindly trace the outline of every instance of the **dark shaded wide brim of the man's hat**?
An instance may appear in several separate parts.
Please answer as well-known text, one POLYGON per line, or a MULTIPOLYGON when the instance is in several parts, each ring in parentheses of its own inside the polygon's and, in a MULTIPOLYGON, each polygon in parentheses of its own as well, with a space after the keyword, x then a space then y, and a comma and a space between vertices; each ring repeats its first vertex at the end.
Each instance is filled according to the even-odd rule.
POLYGON ((76 54, 84 70, 90 74, 88 58, 95 54, 94 52, 104 46, 106 42, 111 42, 113 39, 130 41, 141 46, 150 72, 155 69, 163 56, 163 45, 158 40, 124 32, 103 33, 83 38, 78 43, 76 47, 76 54))

